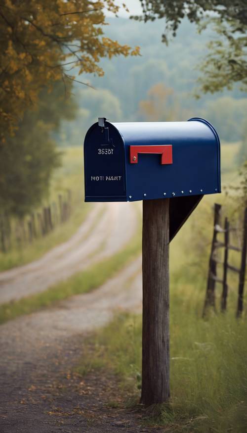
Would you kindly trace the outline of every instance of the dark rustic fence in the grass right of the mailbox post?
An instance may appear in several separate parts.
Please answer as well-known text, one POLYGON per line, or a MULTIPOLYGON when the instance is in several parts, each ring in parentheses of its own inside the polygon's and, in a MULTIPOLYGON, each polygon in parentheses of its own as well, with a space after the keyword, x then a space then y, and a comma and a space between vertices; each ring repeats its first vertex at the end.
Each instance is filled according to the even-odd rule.
MULTIPOLYGON (((221 227, 221 205, 214 204, 214 225, 213 238, 211 244, 211 252, 209 258, 209 269, 207 277, 206 298, 203 310, 203 316, 206 315, 206 310, 211 306, 216 311, 215 304, 215 285, 219 283, 222 286, 221 292, 221 311, 224 312, 227 308, 227 296, 230 289, 228 284, 228 271, 238 274, 238 302, 237 302, 237 317, 240 317, 243 312, 244 303, 244 286, 246 275, 246 256, 247 256, 247 208, 244 213, 243 230, 236 227, 231 227, 228 218, 225 218, 224 227, 221 227), (241 235, 241 247, 232 244, 232 234, 241 235), (223 240, 219 240, 218 236, 223 236, 223 240), (223 260, 218 258, 218 249, 224 249, 223 260), (240 267, 237 268, 229 263, 229 251, 241 253, 240 267), (223 266, 223 277, 217 275, 218 265, 223 266)), ((235 236, 236 238, 236 236, 235 236)))

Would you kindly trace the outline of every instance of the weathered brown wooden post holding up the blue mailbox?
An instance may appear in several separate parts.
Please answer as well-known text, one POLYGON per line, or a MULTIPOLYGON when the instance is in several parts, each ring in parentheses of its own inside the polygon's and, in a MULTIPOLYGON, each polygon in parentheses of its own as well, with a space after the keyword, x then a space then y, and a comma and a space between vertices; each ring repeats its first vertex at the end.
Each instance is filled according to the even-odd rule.
POLYGON ((141 403, 169 398, 169 199, 143 201, 141 403))

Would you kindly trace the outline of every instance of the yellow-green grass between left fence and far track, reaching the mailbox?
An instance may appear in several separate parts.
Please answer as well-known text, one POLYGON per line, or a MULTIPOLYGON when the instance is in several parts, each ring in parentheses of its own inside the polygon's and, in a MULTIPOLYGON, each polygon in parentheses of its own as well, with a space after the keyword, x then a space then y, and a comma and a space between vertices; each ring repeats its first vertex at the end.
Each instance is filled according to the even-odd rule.
POLYGON ((55 171, 50 192, 42 205, 47 206, 50 202, 56 201, 58 194, 65 194, 68 190, 72 192, 72 212, 69 220, 58 224, 53 231, 44 237, 34 239, 30 244, 13 245, 5 253, 0 251, 0 271, 30 263, 54 246, 70 239, 92 209, 91 203, 84 203, 82 146, 63 149, 62 166, 55 171))

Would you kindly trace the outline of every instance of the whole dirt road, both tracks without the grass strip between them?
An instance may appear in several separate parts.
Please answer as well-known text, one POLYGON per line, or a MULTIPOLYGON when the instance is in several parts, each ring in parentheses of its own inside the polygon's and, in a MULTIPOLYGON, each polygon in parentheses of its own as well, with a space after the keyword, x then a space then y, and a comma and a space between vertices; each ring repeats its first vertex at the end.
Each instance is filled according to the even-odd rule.
MULTIPOLYGON (((102 214, 102 207, 95 206, 70 241, 34 263, 2 273, 1 301, 41 291, 128 242, 137 226, 135 208, 103 206, 102 214)), ((119 399, 114 378, 99 373, 81 380, 68 373, 83 356, 88 333, 116 312, 141 311, 141 287, 139 257, 92 292, 0 326, 1 433, 145 431, 137 413, 108 407, 109 399, 119 399)))

